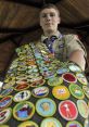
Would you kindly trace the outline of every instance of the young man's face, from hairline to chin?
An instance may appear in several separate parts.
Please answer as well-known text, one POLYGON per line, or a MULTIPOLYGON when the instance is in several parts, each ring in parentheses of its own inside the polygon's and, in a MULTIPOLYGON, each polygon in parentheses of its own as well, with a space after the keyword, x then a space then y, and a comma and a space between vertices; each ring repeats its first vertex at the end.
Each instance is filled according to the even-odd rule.
POLYGON ((40 26, 44 33, 56 31, 59 24, 60 16, 55 9, 44 9, 40 12, 40 26))

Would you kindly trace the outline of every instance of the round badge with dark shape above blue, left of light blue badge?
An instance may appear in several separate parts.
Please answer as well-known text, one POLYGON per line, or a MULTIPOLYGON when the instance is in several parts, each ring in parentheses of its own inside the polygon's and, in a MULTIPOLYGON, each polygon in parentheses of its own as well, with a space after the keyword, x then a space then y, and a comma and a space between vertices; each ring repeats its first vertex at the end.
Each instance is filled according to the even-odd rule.
POLYGON ((35 106, 31 102, 24 101, 17 103, 13 109, 13 116, 17 120, 26 120, 35 114, 35 106))

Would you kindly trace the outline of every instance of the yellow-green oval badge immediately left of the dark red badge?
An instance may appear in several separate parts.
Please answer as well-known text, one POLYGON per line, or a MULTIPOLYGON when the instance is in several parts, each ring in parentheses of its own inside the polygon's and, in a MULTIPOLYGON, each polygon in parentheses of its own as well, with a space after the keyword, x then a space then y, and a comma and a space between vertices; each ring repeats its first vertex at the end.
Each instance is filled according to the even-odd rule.
POLYGON ((63 79, 61 77, 53 77, 48 80, 49 86, 59 86, 63 82, 63 79))

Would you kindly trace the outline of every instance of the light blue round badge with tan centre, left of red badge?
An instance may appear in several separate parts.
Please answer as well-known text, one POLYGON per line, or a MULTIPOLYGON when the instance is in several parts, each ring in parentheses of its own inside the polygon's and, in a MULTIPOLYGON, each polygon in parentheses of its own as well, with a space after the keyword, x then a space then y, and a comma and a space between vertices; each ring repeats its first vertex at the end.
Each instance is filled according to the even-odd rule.
POLYGON ((36 111, 43 117, 52 116, 56 111, 55 102, 49 98, 39 99, 36 103, 36 111))

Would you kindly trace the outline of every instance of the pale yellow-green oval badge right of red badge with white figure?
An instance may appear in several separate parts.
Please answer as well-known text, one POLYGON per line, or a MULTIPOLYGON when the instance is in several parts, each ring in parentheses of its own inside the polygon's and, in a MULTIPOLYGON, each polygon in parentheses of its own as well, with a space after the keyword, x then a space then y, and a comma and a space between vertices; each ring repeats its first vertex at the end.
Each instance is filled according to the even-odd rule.
POLYGON ((79 111, 79 114, 84 117, 87 118, 88 117, 88 105, 84 100, 77 100, 77 107, 79 111))

